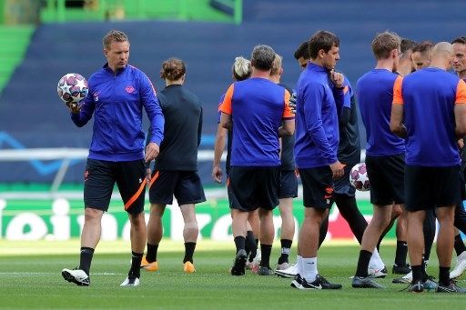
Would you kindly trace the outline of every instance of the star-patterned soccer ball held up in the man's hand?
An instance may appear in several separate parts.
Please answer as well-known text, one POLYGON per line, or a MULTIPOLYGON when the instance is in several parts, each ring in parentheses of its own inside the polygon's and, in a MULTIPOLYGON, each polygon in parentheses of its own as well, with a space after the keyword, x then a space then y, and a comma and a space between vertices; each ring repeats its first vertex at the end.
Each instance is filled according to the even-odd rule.
POLYGON ((87 81, 83 75, 79 74, 66 74, 58 81, 56 85, 56 92, 60 99, 67 105, 78 104, 83 100, 89 89, 87 88, 87 81))

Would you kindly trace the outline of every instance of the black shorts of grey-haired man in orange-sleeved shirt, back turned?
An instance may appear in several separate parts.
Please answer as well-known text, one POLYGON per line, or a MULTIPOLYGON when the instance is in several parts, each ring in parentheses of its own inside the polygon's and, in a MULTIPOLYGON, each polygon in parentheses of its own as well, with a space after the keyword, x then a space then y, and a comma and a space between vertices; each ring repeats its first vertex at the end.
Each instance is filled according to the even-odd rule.
POLYGON ((228 197, 230 208, 254 211, 258 207, 273 210, 279 205, 279 166, 243 167, 232 165, 229 170, 228 197))

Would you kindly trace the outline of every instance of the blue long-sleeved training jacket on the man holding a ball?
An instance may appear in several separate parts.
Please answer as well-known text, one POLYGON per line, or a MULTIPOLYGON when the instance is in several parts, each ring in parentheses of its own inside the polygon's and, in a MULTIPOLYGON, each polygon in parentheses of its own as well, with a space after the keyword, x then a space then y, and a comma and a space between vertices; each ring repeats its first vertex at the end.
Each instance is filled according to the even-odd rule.
POLYGON ((150 121, 150 142, 160 145, 165 119, 147 75, 132 65, 117 72, 108 64, 91 75, 89 93, 71 119, 82 127, 95 114, 88 158, 122 162, 144 158, 143 106, 150 121), (96 112, 96 113, 94 113, 96 112))

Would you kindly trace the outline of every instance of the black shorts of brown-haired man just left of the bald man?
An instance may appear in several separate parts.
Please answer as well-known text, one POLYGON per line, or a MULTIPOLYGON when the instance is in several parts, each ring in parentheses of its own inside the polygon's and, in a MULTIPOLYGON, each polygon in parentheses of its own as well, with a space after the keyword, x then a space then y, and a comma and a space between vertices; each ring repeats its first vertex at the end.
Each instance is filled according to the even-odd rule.
POLYGON ((404 204, 404 154, 366 155, 372 205, 404 204))

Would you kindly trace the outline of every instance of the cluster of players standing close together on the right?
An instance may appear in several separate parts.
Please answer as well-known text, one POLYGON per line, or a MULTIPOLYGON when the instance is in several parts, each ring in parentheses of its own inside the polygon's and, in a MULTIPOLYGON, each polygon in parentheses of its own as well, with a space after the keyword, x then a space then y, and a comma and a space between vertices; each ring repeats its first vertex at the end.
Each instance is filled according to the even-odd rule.
MULTIPOLYGON (((271 76, 282 72, 281 57, 276 55, 279 61, 275 62, 272 56, 268 59, 273 50, 264 45, 256 46, 251 55, 251 76, 228 88, 219 105, 221 117, 212 175, 220 181, 219 155, 225 145, 222 131, 226 128, 232 134, 227 163, 228 198, 237 246, 232 275, 244 275, 254 256, 248 254, 255 246, 254 233, 248 232, 248 227, 254 231, 251 224, 256 222, 254 212, 258 207, 262 256, 258 268, 252 259, 252 269, 258 275, 274 274, 269 265, 273 241, 270 210, 279 204, 280 214, 286 217, 282 200, 296 196, 289 190, 296 180, 289 177, 287 165, 290 102, 291 108, 296 108, 293 150, 303 185, 305 217, 299 230, 297 265, 288 264, 290 240, 282 234, 282 255, 275 274, 294 276, 291 286, 299 289, 341 287, 329 283, 317 270, 317 253, 326 234, 329 208, 336 202, 361 245, 353 287, 383 288, 374 280, 387 275, 377 249, 399 217, 393 273, 405 275, 393 282, 410 283, 411 292, 425 288, 466 292, 451 281, 466 267, 466 247, 459 231, 455 234, 453 230, 453 223, 463 230, 466 219, 461 205, 460 169, 462 137, 466 134, 466 107, 462 105, 466 103, 466 85, 462 80, 466 77, 465 38, 459 37, 451 44, 416 45, 385 32, 374 38, 372 50, 377 65, 359 79, 356 95, 348 79, 334 71, 339 60, 339 39, 326 31, 312 35, 295 54, 304 68, 296 98, 292 96, 287 101, 284 87, 279 92, 277 85, 264 81, 278 84, 279 77, 271 76), (448 72, 451 65, 457 75, 448 72), (349 170, 360 161, 355 97, 367 131, 366 166, 374 208, 369 225, 360 215, 354 188, 349 185, 349 170), (274 132, 273 128, 279 130, 274 132), (277 176, 280 154, 275 147, 279 137, 281 165, 285 167, 277 176), (426 273, 435 218, 440 224, 438 283, 426 273), (458 264, 450 273, 453 244, 458 264), (408 250, 411 266, 406 263, 408 250)), ((234 65, 235 76, 236 68, 234 65)), ((282 229, 288 230, 285 221, 282 229)))

